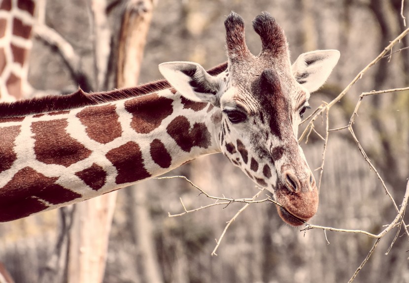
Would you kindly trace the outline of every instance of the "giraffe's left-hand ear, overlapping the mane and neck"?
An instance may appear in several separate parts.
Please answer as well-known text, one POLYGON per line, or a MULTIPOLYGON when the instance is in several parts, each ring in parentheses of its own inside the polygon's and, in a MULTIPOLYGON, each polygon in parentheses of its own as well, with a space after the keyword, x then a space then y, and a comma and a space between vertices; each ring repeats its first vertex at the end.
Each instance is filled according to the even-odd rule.
POLYGON ((219 80, 198 63, 168 62, 159 65, 159 71, 172 87, 184 97, 197 102, 216 105, 219 80))

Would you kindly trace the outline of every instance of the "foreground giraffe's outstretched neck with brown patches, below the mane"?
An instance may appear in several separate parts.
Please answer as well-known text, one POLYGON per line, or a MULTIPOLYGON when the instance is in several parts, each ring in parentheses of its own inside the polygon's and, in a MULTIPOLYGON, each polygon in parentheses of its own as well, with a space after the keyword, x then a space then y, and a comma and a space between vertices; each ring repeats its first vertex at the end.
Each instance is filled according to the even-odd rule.
POLYGON ((0 221, 96 197, 220 152, 220 120, 219 108, 173 89, 2 118, 0 221))

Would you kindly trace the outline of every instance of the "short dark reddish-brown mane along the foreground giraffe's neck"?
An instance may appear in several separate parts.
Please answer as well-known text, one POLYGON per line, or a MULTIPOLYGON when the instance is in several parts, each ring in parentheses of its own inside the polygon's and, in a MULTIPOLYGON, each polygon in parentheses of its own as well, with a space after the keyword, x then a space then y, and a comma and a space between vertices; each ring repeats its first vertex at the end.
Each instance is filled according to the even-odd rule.
MULTIPOLYGON (((209 69, 207 72, 218 75, 225 71, 227 62, 209 69)), ((116 89, 109 92, 85 93, 81 89, 67 95, 47 95, 22 99, 15 102, 0 103, 0 118, 10 118, 40 114, 51 111, 70 110, 90 105, 98 105, 106 102, 117 101, 126 98, 137 97, 161 90, 169 89, 172 86, 167 80, 155 81, 137 87, 116 89)))

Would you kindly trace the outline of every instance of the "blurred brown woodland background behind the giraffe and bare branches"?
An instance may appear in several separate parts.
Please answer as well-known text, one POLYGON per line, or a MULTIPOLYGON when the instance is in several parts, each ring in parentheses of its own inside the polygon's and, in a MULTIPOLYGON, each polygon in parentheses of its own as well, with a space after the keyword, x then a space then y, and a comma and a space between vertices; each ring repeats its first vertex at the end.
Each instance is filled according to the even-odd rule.
MULTIPOLYGON (((125 2, 128 1, 108 0, 102 9, 111 30, 108 71, 113 73, 125 2)), ((253 54, 258 54, 261 43, 252 31, 251 20, 261 11, 268 11, 286 33, 292 62, 311 50, 341 52, 326 85, 311 95, 311 110, 322 101, 335 98, 406 29, 400 15, 401 0, 158 0, 149 1, 152 4, 149 9, 143 8, 144 1, 133 2, 140 13, 152 12, 138 83, 161 79, 158 64, 163 62, 193 61, 205 68, 225 62, 223 22, 232 10, 243 17, 247 45, 253 54)), ((32 88, 54 94, 75 91, 79 85, 87 91, 118 87, 109 72, 102 84, 90 83, 91 79, 84 83, 81 79, 95 79, 98 65, 90 4, 85 0, 41 3, 41 21, 72 46, 80 58, 82 76, 73 76, 58 48, 36 35, 28 57, 28 82, 32 88)), ((409 2, 404 4, 403 13, 409 22, 409 2)), ((407 46, 408 37, 394 51, 407 46)), ((362 92, 408 86, 406 49, 379 61, 331 108, 330 128, 348 124, 362 92)), ((409 92, 367 97, 358 114, 354 126, 357 137, 400 204, 409 177, 409 92)), ((315 126, 325 135, 320 121, 315 126)), ((302 147, 311 169, 321 166, 323 141, 312 133, 302 147)), ((184 175, 217 196, 251 197, 257 192, 241 170, 218 154, 194 160, 168 175, 184 175)), ((318 180, 319 171, 314 175, 318 180)), ((104 283, 347 282, 374 243, 374 239, 359 234, 327 232, 328 244, 322 230, 300 232, 280 220, 273 205, 262 203, 250 205, 240 214, 227 231, 218 255, 210 256, 226 221, 242 205, 169 218, 168 212, 183 211, 179 197, 188 209, 212 202, 198 196, 197 190, 180 179, 150 180, 119 191, 104 283)), ((67 263, 69 252, 55 251, 64 238, 61 231, 68 233, 69 221, 65 222, 64 215, 71 211, 51 211, 0 224, 0 261, 16 283, 69 282, 69 273, 75 273, 67 263), (47 275, 52 269, 50 262, 56 260, 58 271, 54 268, 54 273, 47 275), (53 277, 56 273, 58 279, 53 277)), ((395 215, 390 199, 348 131, 331 132, 320 206, 310 222, 378 233, 395 215)), ((409 223, 409 217, 405 219, 409 223)), ((93 229, 89 226, 83 233, 93 229)), ((356 282, 409 283, 408 237, 398 237, 385 255, 396 232, 397 229, 392 230, 380 241, 356 282)), ((399 236, 402 234, 403 231, 399 236)))

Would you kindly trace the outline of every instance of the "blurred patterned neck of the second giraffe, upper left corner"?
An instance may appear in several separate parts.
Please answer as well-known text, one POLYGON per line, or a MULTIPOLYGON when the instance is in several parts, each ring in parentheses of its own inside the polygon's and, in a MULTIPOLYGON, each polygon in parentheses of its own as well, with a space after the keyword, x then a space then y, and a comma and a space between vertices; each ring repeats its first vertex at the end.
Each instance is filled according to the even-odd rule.
POLYGON ((32 47, 35 1, 0 1, 0 99, 14 101, 28 93, 28 53, 32 47))

